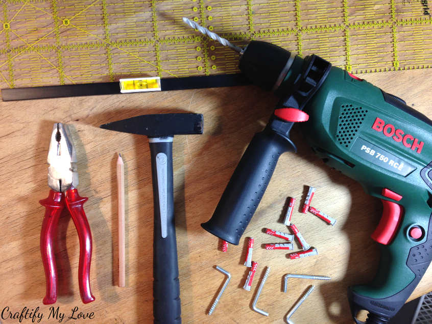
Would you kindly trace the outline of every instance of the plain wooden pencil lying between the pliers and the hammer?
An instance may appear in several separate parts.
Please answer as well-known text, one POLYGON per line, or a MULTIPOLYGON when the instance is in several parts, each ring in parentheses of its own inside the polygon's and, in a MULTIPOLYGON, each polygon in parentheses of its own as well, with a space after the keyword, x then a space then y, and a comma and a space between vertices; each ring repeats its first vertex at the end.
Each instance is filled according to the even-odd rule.
POLYGON ((122 155, 117 158, 117 191, 118 191, 118 286, 126 286, 126 253, 125 253, 125 166, 122 155))

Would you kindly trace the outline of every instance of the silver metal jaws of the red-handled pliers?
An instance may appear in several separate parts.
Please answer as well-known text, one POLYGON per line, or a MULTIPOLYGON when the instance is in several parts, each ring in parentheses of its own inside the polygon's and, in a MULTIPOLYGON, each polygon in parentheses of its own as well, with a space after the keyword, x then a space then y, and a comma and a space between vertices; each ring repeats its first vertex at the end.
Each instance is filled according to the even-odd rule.
POLYGON ((78 186, 77 153, 67 126, 55 123, 48 150, 48 185, 56 192, 78 186))

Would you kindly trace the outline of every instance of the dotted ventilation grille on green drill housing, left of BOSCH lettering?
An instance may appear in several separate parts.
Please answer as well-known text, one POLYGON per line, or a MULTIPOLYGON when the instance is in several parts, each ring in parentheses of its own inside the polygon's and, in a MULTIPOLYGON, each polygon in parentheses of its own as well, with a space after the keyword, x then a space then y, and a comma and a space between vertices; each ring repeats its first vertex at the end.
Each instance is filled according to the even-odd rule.
POLYGON ((352 104, 343 104, 341 106, 338 131, 336 134, 339 144, 345 147, 351 144, 367 112, 368 111, 362 107, 353 107, 352 104))

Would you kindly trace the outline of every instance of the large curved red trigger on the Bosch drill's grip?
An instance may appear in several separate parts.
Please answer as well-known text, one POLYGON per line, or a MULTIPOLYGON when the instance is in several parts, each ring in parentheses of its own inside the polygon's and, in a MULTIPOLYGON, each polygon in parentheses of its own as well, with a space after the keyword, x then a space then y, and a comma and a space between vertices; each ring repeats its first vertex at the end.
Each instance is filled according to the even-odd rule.
POLYGON ((371 237, 378 243, 387 245, 396 235, 401 220, 402 207, 388 200, 381 199, 381 202, 383 206, 381 220, 371 237))

